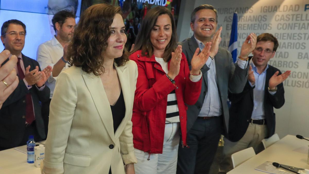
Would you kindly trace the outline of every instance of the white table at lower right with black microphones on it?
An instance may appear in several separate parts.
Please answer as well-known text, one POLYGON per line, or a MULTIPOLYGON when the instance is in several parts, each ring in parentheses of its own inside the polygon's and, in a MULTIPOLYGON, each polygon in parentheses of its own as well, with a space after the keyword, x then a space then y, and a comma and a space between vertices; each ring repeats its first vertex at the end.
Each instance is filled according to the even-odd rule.
POLYGON ((309 164, 307 164, 308 145, 309 141, 307 140, 298 139, 294 135, 287 135, 251 159, 235 167, 228 174, 265 173, 255 170, 255 168, 266 161, 309 169, 309 164))

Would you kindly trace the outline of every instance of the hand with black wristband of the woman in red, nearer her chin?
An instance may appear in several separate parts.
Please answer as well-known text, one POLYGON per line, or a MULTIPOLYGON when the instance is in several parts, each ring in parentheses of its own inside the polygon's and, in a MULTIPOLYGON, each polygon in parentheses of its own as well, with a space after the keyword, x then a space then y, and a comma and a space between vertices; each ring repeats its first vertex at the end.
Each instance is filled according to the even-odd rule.
POLYGON ((178 75, 180 70, 180 61, 182 57, 181 53, 182 53, 181 45, 178 45, 175 52, 172 52, 170 69, 168 70, 167 75, 173 80, 178 75))

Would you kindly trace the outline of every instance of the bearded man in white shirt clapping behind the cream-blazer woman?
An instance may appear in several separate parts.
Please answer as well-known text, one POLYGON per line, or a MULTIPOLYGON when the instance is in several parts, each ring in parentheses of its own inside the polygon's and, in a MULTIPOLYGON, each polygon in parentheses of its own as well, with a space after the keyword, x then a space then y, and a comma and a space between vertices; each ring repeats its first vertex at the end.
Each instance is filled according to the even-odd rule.
POLYGON ((67 44, 73 37, 74 27, 76 25, 75 15, 68 10, 57 12, 53 16, 52 22, 56 34, 51 40, 42 43, 38 47, 36 56, 40 67, 53 67, 53 72, 46 82, 46 85, 50 89, 50 99, 42 103, 42 115, 47 119, 44 120, 46 134, 48 130, 49 103, 53 96, 57 76, 62 70, 68 67, 66 59, 67 44))

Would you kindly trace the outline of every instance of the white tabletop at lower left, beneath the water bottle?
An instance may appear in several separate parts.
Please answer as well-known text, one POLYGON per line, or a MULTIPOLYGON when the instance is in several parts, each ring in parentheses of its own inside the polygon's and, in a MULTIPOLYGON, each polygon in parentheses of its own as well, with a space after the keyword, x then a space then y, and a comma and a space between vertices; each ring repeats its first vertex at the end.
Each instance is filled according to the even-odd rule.
MULTIPOLYGON (((40 144, 40 143, 36 143, 40 144)), ((27 152, 27 145, 17 149, 27 152)), ((27 163, 27 154, 14 148, 0 151, 0 174, 40 174, 34 163, 27 163)))

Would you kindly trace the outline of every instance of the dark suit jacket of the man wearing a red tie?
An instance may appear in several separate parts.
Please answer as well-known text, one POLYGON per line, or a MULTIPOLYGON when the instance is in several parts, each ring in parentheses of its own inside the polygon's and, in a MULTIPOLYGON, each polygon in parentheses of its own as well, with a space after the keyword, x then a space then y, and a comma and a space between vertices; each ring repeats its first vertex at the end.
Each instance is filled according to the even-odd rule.
MULTIPOLYGON (((30 65, 29 71, 35 69, 36 66, 41 71, 39 63, 36 60, 30 59, 23 54, 22 58, 25 69, 30 65)), ((26 94, 28 93, 32 96, 38 134, 41 138, 45 138, 40 102, 49 99, 50 90, 46 85, 42 91, 37 90, 35 85, 32 85, 32 88, 28 90, 23 79, 19 78, 17 88, 6 99, 0 109, 0 147, 12 148, 21 143, 25 131, 26 94)))

